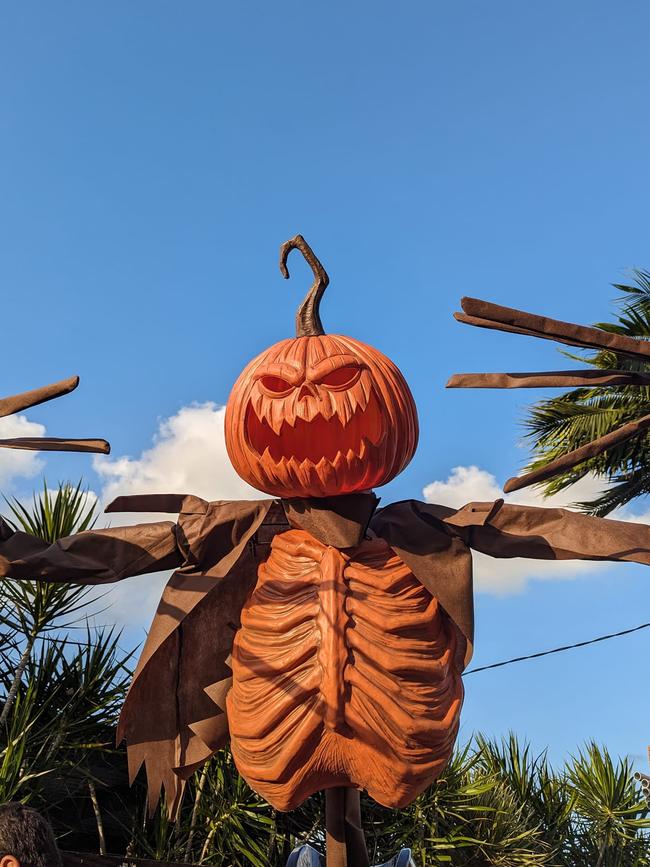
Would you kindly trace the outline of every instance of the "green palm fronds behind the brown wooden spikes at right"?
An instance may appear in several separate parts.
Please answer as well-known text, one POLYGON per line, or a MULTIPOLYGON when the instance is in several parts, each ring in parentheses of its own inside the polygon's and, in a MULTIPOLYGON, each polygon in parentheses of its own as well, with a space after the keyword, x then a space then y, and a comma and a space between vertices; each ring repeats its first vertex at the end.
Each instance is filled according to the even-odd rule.
MULTIPOLYGON (((622 293, 616 322, 598 323, 598 327, 616 334, 650 339, 650 273, 634 271, 632 284, 615 284, 615 288, 622 293)), ((650 371, 650 365, 607 351, 569 357, 601 369, 650 371)), ((645 386, 576 388, 541 400, 530 407, 524 421, 525 435, 534 455, 528 469, 546 466, 561 455, 648 413, 650 388, 645 386)), ((642 432, 540 487, 548 496, 571 487, 588 473, 602 476, 604 482, 599 496, 577 504, 593 515, 602 517, 650 493, 650 436, 642 432)))

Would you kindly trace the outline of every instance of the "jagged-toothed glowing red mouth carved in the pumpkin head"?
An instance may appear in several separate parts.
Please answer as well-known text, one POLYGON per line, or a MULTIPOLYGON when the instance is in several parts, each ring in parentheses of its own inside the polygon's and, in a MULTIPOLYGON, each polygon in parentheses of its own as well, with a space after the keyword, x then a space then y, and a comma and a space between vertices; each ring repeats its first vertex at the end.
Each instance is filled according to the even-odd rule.
POLYGON ((262 456, 268 451, 275 463, 283 459, 302 463, 335 462, 337 458, 363 459, 368 445, 378 446, 384 439, 382 418, 374 400, 367 407, 357 407, 343 424, 337 415, 315 416, 311 421, 296 418, 293 425, 283 421, 279 433, 269 422, 260 419, 249 405, 246 411, 246 436, 250 447, 262 456), (340 456, 340 457, 339 457, 340 456))

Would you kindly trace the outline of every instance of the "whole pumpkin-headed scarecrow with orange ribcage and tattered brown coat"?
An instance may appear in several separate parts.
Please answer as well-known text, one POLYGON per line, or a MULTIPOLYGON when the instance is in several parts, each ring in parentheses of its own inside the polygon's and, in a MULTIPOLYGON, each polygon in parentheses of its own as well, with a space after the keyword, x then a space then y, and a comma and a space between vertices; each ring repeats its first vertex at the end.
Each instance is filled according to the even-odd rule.
POLYGON ((285 277, 293 249, 315 278, 296 337, 246 367, 226 410, 235 469, 271 497, 119 497, 107 511, 178 518, 55 544, 1 524, 0 573, 100 584, 175 569, 120 718, 131 778, 144 764, 151 809, 162 788, 173 815, 185 781, 230 741, 278 809, 326 790, 328 867, 363 867, 359 790, 399 809, 453 748, 471 550, 650 564, 650 529, 501 500, 378 508, 373 487, 414 454, 415 404, 389 359, 324 333, 327 275, 296 236, 281 248, 285 277))

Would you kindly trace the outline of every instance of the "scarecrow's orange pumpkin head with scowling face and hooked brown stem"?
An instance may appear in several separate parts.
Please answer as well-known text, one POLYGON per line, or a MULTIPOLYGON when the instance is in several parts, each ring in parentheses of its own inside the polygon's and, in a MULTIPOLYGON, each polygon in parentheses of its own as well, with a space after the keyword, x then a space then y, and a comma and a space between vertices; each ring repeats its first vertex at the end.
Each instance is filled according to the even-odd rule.
POLYGON ((386 484, 413 457, 413 396, 398 368, 352 337, 325 334, 320 299, 329 278, 301 235, 314 283, 296 314, 296 337, 254 358, 226 408, 226 448, 237 473, 281 497, 328 497, 386 484))

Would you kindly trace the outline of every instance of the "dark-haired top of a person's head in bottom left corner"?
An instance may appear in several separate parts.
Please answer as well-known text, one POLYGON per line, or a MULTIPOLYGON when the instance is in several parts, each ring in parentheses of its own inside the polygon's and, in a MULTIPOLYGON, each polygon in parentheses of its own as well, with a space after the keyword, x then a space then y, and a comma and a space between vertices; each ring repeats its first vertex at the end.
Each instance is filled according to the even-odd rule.
POLYGON ((49 823, 24 804, 0 805, 0 858, 13 855, 20 867, 62 867, 49 823))

